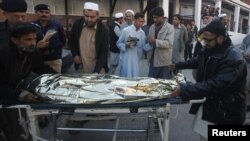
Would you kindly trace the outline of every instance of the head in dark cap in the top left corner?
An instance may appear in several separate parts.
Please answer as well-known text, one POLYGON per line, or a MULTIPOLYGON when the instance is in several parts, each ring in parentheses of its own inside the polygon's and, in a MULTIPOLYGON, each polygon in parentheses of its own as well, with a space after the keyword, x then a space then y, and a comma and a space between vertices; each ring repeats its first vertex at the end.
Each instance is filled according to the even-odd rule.
POLYGON ((27 11, 25 0, 3 0, 0 8, 4 11, 10 26, 25 22, 27 11))

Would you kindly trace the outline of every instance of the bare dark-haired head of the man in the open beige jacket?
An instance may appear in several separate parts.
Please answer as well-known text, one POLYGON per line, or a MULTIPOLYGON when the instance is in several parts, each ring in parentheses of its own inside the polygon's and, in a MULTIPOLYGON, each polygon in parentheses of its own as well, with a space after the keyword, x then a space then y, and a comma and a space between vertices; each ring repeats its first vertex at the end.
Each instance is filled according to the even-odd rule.
POLYGON ((161 7, 155 7, 151 10, 151 15, 153 17, 154 23, 159 26, 164 23, 164 10, 161 7))

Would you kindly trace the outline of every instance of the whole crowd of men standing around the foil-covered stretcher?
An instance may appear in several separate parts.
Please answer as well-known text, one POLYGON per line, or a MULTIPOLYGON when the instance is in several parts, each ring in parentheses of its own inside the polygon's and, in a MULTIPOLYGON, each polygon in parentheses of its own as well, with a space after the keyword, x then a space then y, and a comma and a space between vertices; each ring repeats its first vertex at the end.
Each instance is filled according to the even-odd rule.
MULTIPOLYGON (((52 20, 46 4, 34 7, 37 20, 32 23, 25 21, 25 0, 3 0, 0 8, 7 19, 0 23, 0 102, 39 102, 36 94, 22 85, 32 73, 61 72, 62 47, 66 43, 64 29, 52 20)), ((178 14, 170 24, 162 7, 155 7, 150 13, 154 23, 148 32, 143 30, 144 15, 131 9, 124 15, 116 13, 107 29, 100 21, 99 5, 85 2, 83 17, 74 22, 68 37, 76 72, 138 77, 146 52, 149 77, 171 79, 173 72, 180 69, 196 70, 196 82, 179 84, 170 97, 184 101, 206 98, 190 110, 196 114, 193 129, 202 139, 207 139, 208 125, 243 124, 246 83, 249 95, 248 39, 244 40, 243 50, 233 47, 223 17, 211 20, 204 15, 204 28, 197 33, 194 21, 186 28, 178 14), (190 54, 188 47, 196 38, 200 39, 197 56, 184 57, 184 50, 190 54)), ((0 132, 6 140, 30 139, 20 136, 17 111, 0 109, 0 121, 0 132)))

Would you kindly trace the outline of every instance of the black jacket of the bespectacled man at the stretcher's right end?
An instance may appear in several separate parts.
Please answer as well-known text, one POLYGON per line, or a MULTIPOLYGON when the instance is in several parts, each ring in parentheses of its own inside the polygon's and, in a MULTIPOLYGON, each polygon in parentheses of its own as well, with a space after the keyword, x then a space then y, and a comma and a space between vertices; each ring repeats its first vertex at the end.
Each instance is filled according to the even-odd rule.
MULTIPOLYGON (((246 115, 246 63, 230 38, 214 49, 205 49, 197 58, 176 64, 177 69, 197 68, 197 83, 181 84, 183 100, 202 99, 202 119, 215 124, 242 124, 246 115)), ((201 104, 193 104, 195 114, 201 104)))

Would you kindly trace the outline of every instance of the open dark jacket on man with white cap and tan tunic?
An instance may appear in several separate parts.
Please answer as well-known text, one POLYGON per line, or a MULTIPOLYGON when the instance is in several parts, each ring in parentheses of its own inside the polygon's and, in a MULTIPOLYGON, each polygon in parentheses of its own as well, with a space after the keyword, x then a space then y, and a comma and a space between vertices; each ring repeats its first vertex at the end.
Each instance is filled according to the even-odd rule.
MULTIPOLYGON (((68 46, 71 49, 72 56, 80 56, 79 39, 82 29, 84 27, 84 19, 77 20, 71 30, 68 46)), ((95 34, 95 48, 96 48, 96 65, 94 72, 99 73, 102 68, 106 68, 108 49, 109 49, 109 32, 101 21, 97 22, 97 30, 95 34)), ((77 68, 77 67, 76 67, 77 68)))

